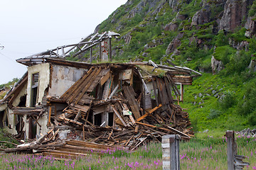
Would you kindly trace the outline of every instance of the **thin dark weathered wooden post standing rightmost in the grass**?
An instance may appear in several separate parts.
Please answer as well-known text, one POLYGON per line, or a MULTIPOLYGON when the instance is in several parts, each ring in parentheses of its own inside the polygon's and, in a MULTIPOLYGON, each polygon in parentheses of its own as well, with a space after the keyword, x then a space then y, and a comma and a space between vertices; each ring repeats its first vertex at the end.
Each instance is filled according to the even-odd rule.
POLYGON ((228 130, 226 132, 227 145, 228 145, 228 170, 234 170, 234 154, 235 154, 235 133, 233 130, 228 130))

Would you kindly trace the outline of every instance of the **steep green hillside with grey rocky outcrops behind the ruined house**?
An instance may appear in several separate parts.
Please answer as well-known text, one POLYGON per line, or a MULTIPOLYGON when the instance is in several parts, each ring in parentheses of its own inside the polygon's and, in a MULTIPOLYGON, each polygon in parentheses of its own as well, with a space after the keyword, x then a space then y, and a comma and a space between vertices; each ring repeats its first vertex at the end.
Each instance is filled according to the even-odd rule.
POLYGON ((256 94, 250 89, 256 84, 255 16, 253 0, 129 0, 95 32, 121 35, 112 42, 114 60, 153 60, 203 72, 184 103, 198 130, 230 128, 220 124, 234 120, 242 128, 256 125, 256 99, 249 92, 256 94))

